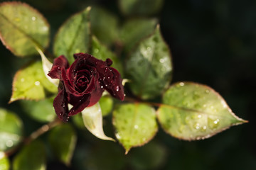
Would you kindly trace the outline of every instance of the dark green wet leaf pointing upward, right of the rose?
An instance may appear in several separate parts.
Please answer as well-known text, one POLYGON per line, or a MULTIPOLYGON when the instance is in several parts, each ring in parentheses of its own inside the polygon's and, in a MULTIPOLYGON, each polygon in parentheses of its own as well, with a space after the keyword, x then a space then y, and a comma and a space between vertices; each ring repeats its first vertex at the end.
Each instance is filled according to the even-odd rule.
POLYGON ((127 78, 131 80, 129 87, 139 98, 154 98, 169 86, 171 53, 161 37, 159 27, 129 55, 126 72, 127 78))

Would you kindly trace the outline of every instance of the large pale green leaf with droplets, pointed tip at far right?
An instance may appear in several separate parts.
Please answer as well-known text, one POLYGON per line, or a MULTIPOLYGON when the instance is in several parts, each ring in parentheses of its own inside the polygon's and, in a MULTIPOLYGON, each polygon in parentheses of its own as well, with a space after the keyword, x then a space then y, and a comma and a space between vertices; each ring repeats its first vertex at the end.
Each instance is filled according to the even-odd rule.
POLYGON ((182 140, 201 140, 232 125, 245 123, 213 89, 202 84, 180 82, 163 96, 157 111, 162 128, 182 140))

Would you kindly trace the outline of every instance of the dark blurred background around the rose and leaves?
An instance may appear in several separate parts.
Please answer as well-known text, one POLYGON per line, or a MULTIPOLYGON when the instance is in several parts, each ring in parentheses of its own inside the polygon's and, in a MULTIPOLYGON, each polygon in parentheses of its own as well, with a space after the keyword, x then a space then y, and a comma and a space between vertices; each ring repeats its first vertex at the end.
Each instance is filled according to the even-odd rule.
MULTIPOLYGON (((117 1, 113 0, 23 2, 37 8, 48 19, 52 38, 70 15, 89 5, 102 6, 121 21, 125 18, 117 1)), ((171 48, 172 83, 195 81, 207 84, 225 98, 236 115, 249 123, 196 142, 177 140, 159 130, 152 142, 132 149, 127 156, 117 143, 100 141, 90 134, 78 132, 72 165, 66 167, 49 159, 48 169, 256 169, 255 9, 256 1, 253 0, 166 0, 154 16, 159 18, 164 39, 171 48)), ((11 81, 18 68, 28 60, 15 57, 2 44, 0 57, 0 107, 17 113, 18 103, 7 104, 11 81)), ((26 125, 29 118, 25 115, 21 118, 28 134, 39 126, 36 123, 26 125)))

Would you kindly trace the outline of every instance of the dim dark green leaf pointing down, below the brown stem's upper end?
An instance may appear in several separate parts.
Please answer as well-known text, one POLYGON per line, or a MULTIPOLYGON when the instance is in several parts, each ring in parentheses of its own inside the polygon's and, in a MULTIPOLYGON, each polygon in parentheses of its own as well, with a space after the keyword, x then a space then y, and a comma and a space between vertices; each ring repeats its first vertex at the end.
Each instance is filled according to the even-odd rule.
POLYGON ((61 162, 69 165, 77 140, 73 127, 70 124, 55 127, 50 131, 48 140, 53 154, 55 154, 61 162))

